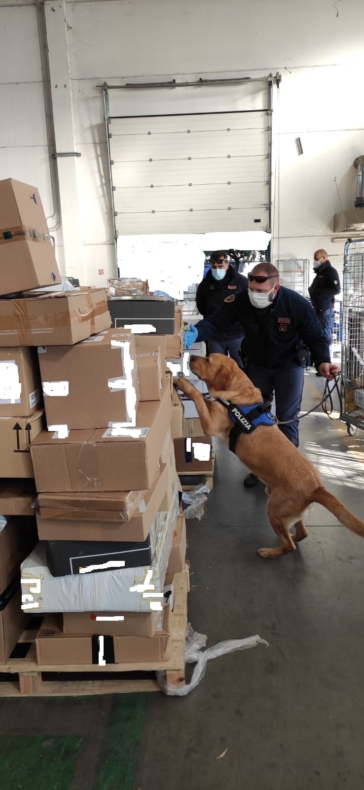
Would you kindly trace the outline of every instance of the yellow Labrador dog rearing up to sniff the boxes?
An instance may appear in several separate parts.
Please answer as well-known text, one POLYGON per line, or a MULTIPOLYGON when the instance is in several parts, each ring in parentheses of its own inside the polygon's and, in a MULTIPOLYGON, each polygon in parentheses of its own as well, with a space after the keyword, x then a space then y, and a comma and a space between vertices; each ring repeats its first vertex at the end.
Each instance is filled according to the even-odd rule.
MULTIPOLYGON (((210 395, 237 405, 262 403, 261 390, 238 367, 234 359, 223 354, 208 357, 191 356, 191 371, 206 382, 210 395)), ((187 378, 174 378, 174 386, 181 389, 196 404, 206 436, 220 436, 229 445, 233 427, 227 408, 218 401, 208 401, 187 378)), ((295 544, 308 534, 303 523, 307 508, 319 502, 341 523, 364 537, 364 521, 344 507, 339 499, 326 491, 321 477, 311 462, 280 431, 276 424, 258 425, 252 434, 240 434, 235 453, 254 475, 268 487, 268 517, 279 548, 261 548, 261 557, 281 557, 295 551, 295 544), (295 535, 291 527, 295 525, 295 535)))

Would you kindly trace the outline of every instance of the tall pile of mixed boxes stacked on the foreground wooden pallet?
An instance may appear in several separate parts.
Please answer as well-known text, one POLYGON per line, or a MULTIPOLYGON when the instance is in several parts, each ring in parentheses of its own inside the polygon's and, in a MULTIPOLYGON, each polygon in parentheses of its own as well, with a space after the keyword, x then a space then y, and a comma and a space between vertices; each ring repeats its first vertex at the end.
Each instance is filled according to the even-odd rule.
POLYGON ((24 282, 0 299, 0 555, 19 548, 17 587, 0 562, 0 661, 25 614, 43 615, 40 664, 167 660, 186 522, 166 335, 109 329, 102 290, 24 282))

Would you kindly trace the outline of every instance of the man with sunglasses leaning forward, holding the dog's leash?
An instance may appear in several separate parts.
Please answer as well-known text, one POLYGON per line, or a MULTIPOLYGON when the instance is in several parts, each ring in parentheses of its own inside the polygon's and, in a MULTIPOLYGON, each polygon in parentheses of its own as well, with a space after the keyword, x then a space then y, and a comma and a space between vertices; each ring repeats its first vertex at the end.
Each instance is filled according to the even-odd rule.
MULTIPOLYGON (((280 430, 298 447, 298 412, 309 352, 317 371, 329 381, 339 373, 331 363, 325 330, 308 301, 280 285, 278 270, 271 263, 255 266, 248 274, 246 291, 227 296, 220 310, 190 325, 186 348, 226 332, 236 321, 244 334, 245 372, 265 401, 275 395, 276 417, 289 423, 280 425, 280 430)), ((257 483, 252 473, 244 480, 248 488, 257 483)))

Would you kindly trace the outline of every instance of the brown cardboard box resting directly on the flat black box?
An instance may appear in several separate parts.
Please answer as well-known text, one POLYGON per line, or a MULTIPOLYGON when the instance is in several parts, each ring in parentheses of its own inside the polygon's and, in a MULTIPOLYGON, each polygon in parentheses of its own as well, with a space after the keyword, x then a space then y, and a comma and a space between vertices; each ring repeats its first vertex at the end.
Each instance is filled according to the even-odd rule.
MULTIPOLYGON (((164 466, 152 488, 146 492, 139 511, 129 521, 77 521, 41 517, 37 514, 39 540, 118 540, 129 543, 146 540, 168 484, 164 466)), ((50 511, 47 510, 47 513, 50 511)))

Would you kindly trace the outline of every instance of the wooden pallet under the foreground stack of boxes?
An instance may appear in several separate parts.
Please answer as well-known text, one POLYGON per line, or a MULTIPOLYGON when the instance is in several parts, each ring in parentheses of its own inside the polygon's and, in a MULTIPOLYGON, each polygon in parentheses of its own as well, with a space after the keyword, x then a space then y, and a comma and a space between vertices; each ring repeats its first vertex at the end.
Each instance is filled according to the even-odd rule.
MULTIPOLYGON (((190 573, 186 565, 181 574, 174 575, 174 611, 171 618, 171 657, 167 661, 154 664, 62 664, 39 666, 36 662, 36 631, 24 631, 19 643, 30 643, 24 658, 9 658, 6 664, 0 665, 0 697, 63 697, 84 696, 87 694, 126 694, 135 691, 159 691, 156 679, 106 679, 109 673, 138 672, 154 673, 159 670, 166 672, 167 682, 175 686, 185 685, 185 648, 187 628, 187 592, 190 590, 190 573), (62 673, 80 678, 67 680, 60 677, 56 680, 43 679, 45 673, 62 673), (88 679, 88 675, 97 674, 99 679, 88 679), (4 675, 15 675, 9 681, 4 675), (19 679, 17 679, 19 675, 19 679)), ((19 644, 18 643, 18 644, 19 644)))

